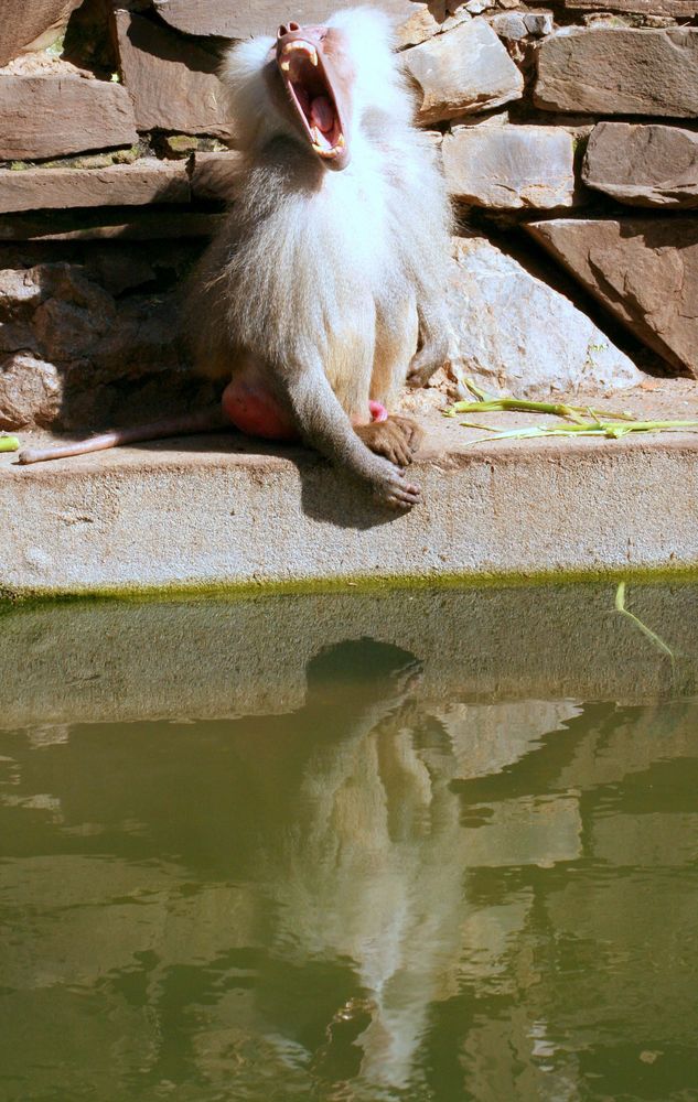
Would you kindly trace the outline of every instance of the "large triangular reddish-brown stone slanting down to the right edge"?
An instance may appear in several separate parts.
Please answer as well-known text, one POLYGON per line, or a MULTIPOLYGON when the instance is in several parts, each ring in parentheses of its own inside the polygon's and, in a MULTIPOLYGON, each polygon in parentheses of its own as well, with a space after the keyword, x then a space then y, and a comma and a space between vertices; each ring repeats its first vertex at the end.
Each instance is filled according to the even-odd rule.
POLYGON ((698 376, 698 218, 563 218, 526 229, 646 345, 698 376))

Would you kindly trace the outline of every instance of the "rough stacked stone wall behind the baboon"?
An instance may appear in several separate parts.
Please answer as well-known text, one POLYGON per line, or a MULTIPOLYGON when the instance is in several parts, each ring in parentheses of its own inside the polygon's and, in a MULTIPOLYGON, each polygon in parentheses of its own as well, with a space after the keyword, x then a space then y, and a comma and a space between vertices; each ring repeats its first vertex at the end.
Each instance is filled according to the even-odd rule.
MULTIPOLYGON (((698 0, 377 6, 459 214, 451 382, 698 375, 698 0)), ((4 0, 0 428, 211 397, 175 338, 176 289, 236 156, 221 51, 344 7, 4 0)))

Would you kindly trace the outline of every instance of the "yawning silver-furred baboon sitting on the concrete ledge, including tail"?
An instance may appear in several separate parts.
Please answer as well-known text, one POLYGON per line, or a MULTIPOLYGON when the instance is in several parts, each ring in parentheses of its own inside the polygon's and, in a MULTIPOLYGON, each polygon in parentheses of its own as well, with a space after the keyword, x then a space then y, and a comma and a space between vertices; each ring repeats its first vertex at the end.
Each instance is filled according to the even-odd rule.
MULTIPOLYGON (((402 468, 420 431, 385 408, 447 358, 451 216, 388 21, 362 8, 322 26, 282 24, 233 46, 222 79, 241 156, 230 214, 189 294, 197 369, 229 380, 222 408, 238 429, 300 437, 380 501, 410 508, 420 491, 402 468)), ((141 432, 172 434, 173 423, 141 432)))

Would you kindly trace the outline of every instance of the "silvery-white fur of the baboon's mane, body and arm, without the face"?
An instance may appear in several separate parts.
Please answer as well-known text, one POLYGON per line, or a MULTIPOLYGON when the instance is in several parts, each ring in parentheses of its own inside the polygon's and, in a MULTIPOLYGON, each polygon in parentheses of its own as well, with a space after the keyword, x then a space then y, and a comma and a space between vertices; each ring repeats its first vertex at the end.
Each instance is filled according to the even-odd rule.
POLYGON ((386 19, 371 9, 327 21, 355 67, 351 163, 329 171, 269 96, 272 39, 233 47, 223 79, 243 150, 236 201, 191 295, 200 370, 258 374, 303 439, 389 505, 416 487, 373 454, 351 418, 395 401, 445 359, 442 296, 451 212, 386 19), (419 350, 418 349, 419 342, 419 350))

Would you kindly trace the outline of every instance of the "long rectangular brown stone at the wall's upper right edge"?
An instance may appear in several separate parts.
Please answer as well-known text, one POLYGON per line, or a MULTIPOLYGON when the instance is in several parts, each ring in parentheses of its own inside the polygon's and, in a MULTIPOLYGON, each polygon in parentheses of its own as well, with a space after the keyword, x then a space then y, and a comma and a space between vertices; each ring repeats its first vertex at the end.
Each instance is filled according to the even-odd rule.
POLYGON ((545 39, 537 107, 602 115, 698 115, 698 28, 590 28, 545 39))

